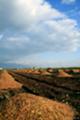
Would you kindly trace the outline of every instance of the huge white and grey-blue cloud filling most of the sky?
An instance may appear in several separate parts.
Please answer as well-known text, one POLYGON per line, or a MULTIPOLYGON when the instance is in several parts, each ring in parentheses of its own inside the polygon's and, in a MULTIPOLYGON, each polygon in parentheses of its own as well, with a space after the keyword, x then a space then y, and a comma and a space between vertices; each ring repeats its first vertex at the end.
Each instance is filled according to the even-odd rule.
POLYGON ((4 61, 47 51, 75 51, 79 38, 76 20, 44 0, 0 0, 0 58, 4 61))

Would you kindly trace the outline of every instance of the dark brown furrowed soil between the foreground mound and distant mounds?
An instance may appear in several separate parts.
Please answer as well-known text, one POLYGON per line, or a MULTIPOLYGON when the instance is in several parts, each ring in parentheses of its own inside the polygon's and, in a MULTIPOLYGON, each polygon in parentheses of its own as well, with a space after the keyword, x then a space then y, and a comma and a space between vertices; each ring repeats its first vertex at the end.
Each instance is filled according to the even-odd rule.
POLYGON ((21 72, 9 72, 23 89, 35 95, 44 96, 73 106, 80 120, 80 77, 55 77, 21 72))

